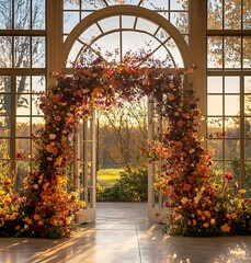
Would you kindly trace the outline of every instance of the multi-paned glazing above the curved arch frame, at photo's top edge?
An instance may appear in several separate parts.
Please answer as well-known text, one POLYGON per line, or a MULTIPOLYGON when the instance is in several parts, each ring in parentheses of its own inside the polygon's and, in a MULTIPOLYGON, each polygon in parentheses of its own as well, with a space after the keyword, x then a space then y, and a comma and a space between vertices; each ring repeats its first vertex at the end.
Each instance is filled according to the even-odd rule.
POLYGON ((115 5, 151 10, 173 24, 189 42, 189 0, 64 0, 64 37, 91 13, 115 5))

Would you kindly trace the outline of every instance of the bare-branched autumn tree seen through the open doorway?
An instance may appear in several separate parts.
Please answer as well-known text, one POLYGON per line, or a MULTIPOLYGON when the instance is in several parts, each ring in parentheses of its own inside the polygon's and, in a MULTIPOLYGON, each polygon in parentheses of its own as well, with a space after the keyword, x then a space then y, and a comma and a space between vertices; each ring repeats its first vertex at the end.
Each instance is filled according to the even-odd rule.
POLYGON ((102 112, 100 123, 100 161, 114 160, 127 171, 146 167, 140 153, 147 144, 146 100, 102 112))

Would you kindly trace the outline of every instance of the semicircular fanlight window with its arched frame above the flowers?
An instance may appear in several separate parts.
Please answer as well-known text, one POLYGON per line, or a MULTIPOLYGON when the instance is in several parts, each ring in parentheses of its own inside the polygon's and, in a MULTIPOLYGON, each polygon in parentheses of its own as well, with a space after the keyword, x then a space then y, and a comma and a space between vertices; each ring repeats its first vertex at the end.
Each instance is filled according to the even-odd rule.
POLYGON ((96 14, 89 15, 67 37, 67 68, 75 67, 81 54, 87 52, 92 57, 105 57, 110 53, 110 58, 121 61, 128 50, 140 49, 150 50, 155 59, 168 57, 167 67, 185 67, 187 45, 184 38, 171 23, 157 13, 142 8, 112 7, 100 10, 96 14))

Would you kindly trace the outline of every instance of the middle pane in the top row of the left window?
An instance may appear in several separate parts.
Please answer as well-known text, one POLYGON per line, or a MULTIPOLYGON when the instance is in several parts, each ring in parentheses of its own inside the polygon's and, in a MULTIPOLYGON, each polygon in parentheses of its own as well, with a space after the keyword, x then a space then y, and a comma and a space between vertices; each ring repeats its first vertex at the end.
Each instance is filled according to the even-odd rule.
POLYGON ((31 0, 14 1, 14 28, 31 30, 31 0))

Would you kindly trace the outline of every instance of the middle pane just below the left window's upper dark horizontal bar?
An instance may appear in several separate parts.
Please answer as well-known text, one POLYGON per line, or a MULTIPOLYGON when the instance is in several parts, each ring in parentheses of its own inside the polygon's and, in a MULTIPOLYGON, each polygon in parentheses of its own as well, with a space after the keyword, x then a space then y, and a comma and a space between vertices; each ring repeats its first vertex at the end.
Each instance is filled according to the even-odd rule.
POLYGON ((14 67, 15 68, 31 67, 31 37, 30 36, 14 37, 14 67))

